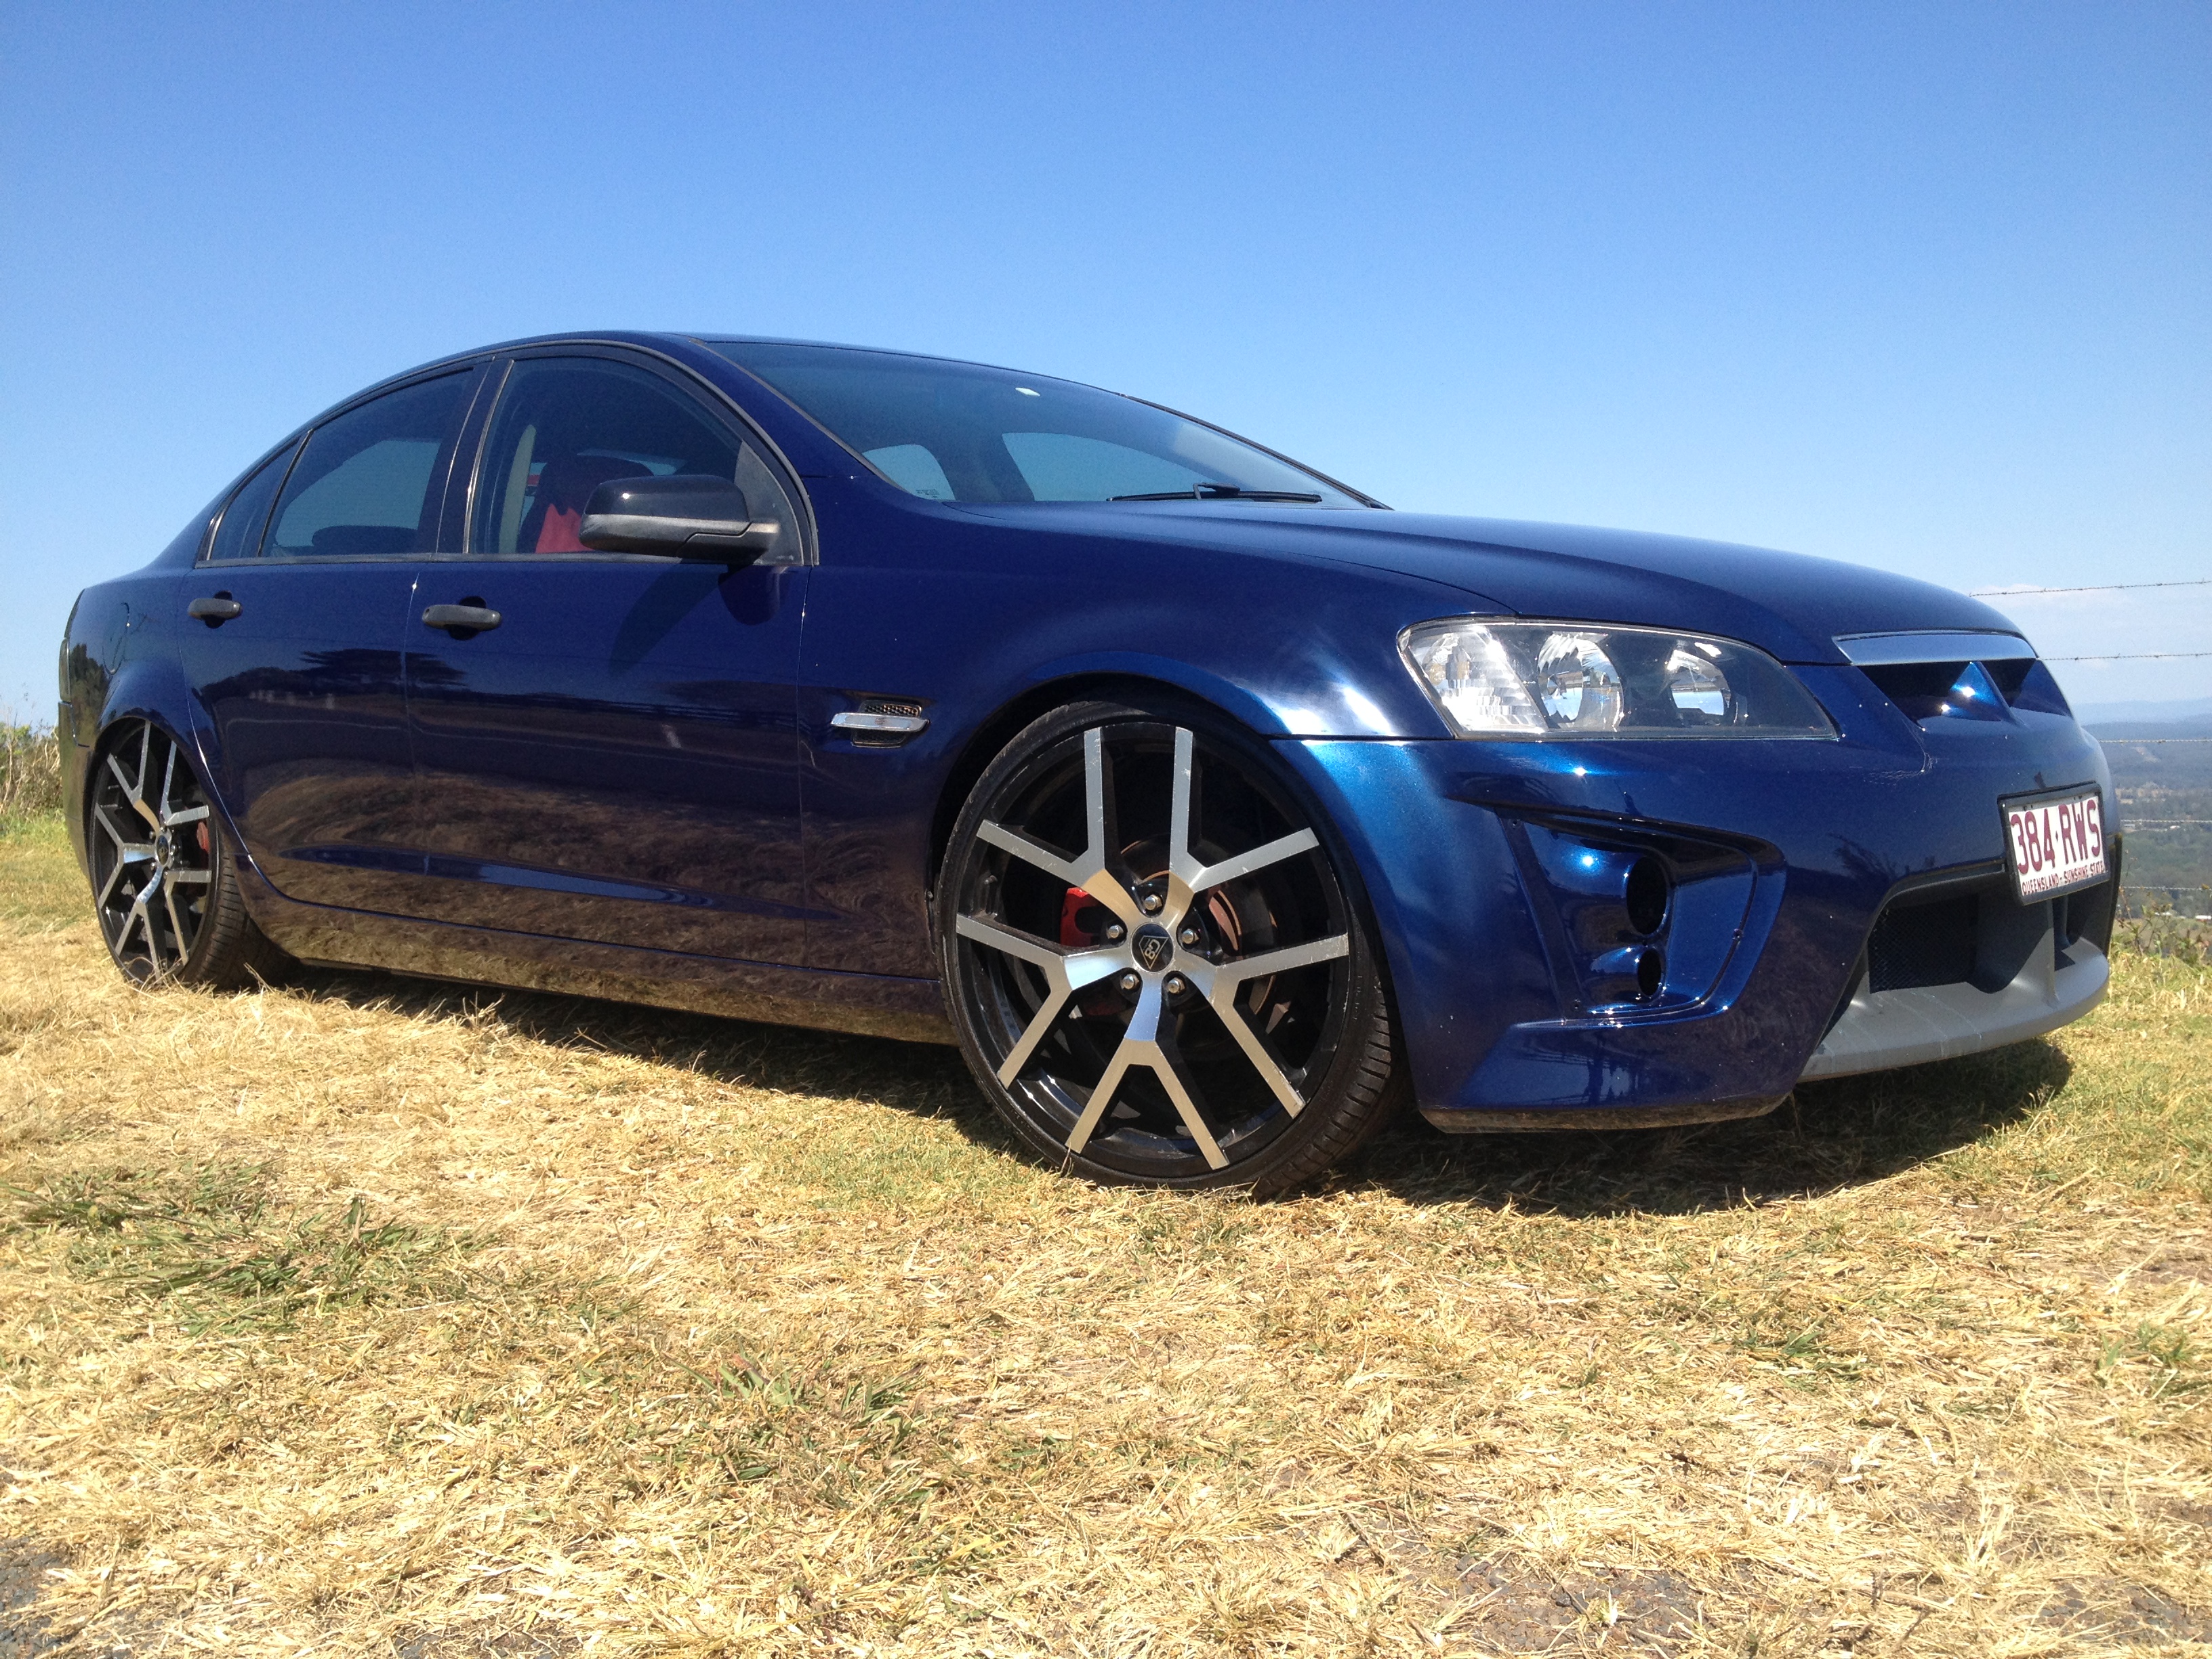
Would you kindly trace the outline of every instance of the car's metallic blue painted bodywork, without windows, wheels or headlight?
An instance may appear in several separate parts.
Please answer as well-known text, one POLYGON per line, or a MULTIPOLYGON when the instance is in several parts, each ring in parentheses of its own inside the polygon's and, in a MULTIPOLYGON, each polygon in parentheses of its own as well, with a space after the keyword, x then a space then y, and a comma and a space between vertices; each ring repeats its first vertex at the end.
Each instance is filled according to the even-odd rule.
MULTIPOLYGON (((1913 721, 1847 664, 1838 633, 2008 628, 1924 582, 1371 509, 931 502, 690 338, 591 338, 765 438, 814 562, 469 555, 489 398, 440 553, 197 566, 217 498, 71 617, 80 856, 91 745, 146 714, 197 745, 248 905, 299 956, 942 1040, 927 896, 967 787, 1062 701, 1172 690, 1274 739, 1334 827, 1422 1106, 1504 1121, 1787 1093, 1900 883, 2002 867, 2000 796, 2095 785, 2112 814, 2070 717, 1975 668, 1975 719, 1913 721), (186 619, 215 591, 243 613, 186 619), (420 626, 449 602, 504 622, 420 626), (1743 639, 1838 737, 1455 741, 1396 637, 1462 613, 1743 639), (929 726, 896 748, 830 726, 867 699, 929 726), (1646 854, 1674 878, 1648 942, 1608 909, 1646 854), (1663 984, 1637 1000, 1646 947, 1663 984)), ((560 343, 456 361, 493 385, 560 343)))

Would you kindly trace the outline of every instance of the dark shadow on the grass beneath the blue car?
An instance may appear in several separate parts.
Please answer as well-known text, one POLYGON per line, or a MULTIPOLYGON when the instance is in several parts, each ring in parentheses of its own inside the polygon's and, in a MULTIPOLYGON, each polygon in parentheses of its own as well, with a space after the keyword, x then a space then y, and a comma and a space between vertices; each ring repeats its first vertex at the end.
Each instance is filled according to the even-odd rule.
MULTIPOLYGON (((305 969, 292 989, 361 1009, 495 1022, 555 1046, 679 1066, 732 1086, 938 1117, 978 1146, 1022 1157, 958 1051, 945 1046, 396 973, 305 969)), ((2070 1071, 2055 1044, 2024 1042, 1966 1060, 1805 1084, 1765 1117, 1688 1128, 1444 1135, 1407 1110, 1318 1190, 1380 1188, 1411 1203, 1513 1206, 1564 1217, 1774 1203, 1880 1181, 1969 1146, 2051 1099, 2070 1071)))

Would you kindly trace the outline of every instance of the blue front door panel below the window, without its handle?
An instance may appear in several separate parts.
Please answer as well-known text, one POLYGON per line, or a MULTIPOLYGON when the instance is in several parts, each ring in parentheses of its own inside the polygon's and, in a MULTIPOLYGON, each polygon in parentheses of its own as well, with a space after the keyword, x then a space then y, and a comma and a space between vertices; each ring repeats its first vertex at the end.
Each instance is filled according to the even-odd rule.
POLYGON ((622 555, 411 566, 407 845, 429 863, 396 907, 801 962, 792 684, 810 575, 622 555), (420 624, 458 602, 502 624, 469 639, 420 624))

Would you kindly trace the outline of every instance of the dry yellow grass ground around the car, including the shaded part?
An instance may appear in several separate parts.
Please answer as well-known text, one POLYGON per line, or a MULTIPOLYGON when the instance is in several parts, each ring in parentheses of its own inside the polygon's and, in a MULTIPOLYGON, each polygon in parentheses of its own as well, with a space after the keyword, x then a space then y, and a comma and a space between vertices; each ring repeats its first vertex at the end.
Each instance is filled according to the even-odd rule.
POLYGON ((945 1051, 139 993, 80 907, 0 843, 0 1579, 77 1650, 2212 1639, 2199 964, 1261 1206, 1037 1170, 945 1051))

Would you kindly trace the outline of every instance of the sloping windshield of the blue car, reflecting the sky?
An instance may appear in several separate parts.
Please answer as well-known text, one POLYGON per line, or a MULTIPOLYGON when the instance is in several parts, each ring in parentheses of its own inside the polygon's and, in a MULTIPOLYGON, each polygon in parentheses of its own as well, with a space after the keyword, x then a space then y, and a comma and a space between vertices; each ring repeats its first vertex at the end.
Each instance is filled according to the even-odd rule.
POLYGON ((1190 495, 1365 507, 1225 431, 1073 380, 843 345, 703 341, 933 502, 1190 495))

